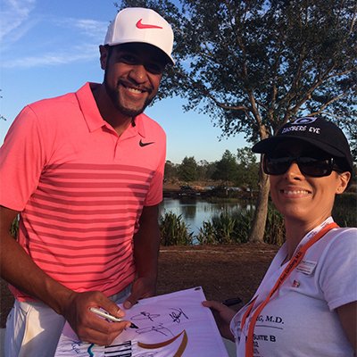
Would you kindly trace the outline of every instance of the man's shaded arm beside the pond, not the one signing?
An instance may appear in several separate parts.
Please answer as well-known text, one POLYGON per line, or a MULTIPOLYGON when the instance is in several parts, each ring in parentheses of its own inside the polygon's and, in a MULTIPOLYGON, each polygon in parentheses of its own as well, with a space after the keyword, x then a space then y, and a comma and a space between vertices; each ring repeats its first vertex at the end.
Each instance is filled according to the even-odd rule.
POLYGON ((129 309, 138 299, 154 296, 160 249, 158 205, 145 206, 139 219, 140 228, 134 235, 134 259, 137 265, 137 281, 133 293, 124 303, 129 309))

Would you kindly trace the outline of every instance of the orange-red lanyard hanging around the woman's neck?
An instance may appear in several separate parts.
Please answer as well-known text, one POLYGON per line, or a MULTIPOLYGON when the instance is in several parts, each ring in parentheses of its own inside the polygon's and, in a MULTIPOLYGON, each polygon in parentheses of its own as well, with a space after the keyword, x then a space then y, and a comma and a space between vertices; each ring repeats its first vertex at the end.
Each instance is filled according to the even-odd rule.
MULTIPOLYGON (((303 259, 303 255, 306 253, 306 251, 316 243, 321 237, 323 237, 326 233, 328 233, 328 230, 332 228, 338 228, 335 222, 329 223, 328 226, 325 228, 322 228, 320 232, 312 237, 309 242, 307 242, 305 245, 303 245, 300 250, 295 254, 294 258, 289 262, 287 265, 286 269, 281 273, 280 277, 278 278, 277 282, 275 283, 275 286, 271 289, 270 294, 268 297, 265 299, 264 302, 262 302, 259 307, 254 311, 252 320, 249 325, 248 329, 248 336, 246 338, 245 342, 245 357, 253 357, 253 332, 254 332, 254 326, 255 322, 258 319, 263 307, 269 302, 270 297, 274 295, 278 288, 283 284, 283 282, 286 280, 286 278, 289 276, 289 274, 295 269, 295 267, 299 264, 299 262, 303 259)), ((258 297, 258 296, 257 296, 258 297)), ((245 314, 243 315, 242 318, 242 330, 243 327, 245 326, 245 320, 253 310, 254 302, 256 298, 253 300, 253 302, 250 304, 248 307, 247 311, 245 311, 245 314)))

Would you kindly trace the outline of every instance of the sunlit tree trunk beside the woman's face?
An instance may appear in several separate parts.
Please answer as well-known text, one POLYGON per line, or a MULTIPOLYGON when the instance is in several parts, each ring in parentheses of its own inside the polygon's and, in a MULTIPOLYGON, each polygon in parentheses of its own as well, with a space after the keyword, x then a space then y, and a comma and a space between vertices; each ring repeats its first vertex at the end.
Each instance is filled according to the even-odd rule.
POLYGON ((262 170, 262 155, 261 167, 259 169, 258 182, 258 198, 255 204, 255 212, 252 222, 252 228, 249 231, 248 242, 263 243, 265 223, 267 221, 268 213, 268 198, 270 192, 269 176, 262 170))

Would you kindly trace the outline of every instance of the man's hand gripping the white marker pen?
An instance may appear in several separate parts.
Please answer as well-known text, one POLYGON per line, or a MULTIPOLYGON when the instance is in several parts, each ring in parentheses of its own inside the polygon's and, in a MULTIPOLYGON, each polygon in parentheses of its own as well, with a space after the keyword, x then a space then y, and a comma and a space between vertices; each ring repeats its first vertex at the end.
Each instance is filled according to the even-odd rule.
POLYGON ((114 338, 125 329, 130 322, 109 322, 90 311, 91 307, 102 308, 117 318, 123 318, 125 312, 116 303, 112 303, 99 291, 87 293, 73 292, 66 306, 62 308, 62 316, 70 323, 81 341, 96 345, 111 345, 114 338))

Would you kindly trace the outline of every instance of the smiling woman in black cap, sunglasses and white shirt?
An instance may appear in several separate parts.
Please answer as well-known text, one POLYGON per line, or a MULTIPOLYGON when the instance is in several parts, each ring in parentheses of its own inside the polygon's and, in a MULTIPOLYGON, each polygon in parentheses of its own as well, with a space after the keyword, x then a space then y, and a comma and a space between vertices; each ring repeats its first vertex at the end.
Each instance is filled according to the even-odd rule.
POLYGON ((357 228, 338 228, 335 195, 351 179, 345 135, 301 118, 253 146, 264 155, 270 195, 285 217, 280 248, 253 300, 236 312, 203 302, 238 357, 353 356, 356 353, 357 228))

